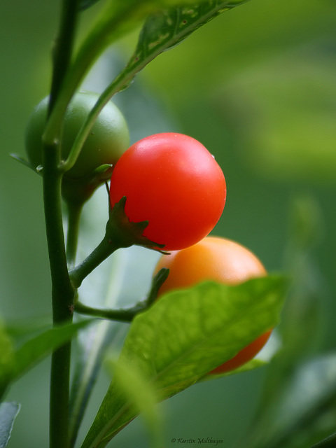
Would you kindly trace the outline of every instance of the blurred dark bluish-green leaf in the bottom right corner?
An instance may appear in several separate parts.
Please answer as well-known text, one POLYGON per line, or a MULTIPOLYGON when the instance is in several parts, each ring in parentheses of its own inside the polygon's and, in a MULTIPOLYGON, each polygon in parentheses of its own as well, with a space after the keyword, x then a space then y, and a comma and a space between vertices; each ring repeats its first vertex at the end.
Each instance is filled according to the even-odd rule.
MULTIPOLYGON (((286 387, 281 388, 281 395, 253 426, 253 442, 248 446, 310 447, 314 435, 321 437, 321 428, 322 433, 335 430, 335 397, 336 353, 307 360, 297 367, 286 387)), ((241 443, 247 446, 245 440, 241 443)))

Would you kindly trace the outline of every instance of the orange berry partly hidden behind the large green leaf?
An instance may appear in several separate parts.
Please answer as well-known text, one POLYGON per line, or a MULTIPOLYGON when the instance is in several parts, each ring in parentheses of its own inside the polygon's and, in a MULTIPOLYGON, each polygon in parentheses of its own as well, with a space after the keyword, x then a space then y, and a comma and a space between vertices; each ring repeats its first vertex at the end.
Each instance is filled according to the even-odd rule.
MULTIPOLYGON (((253 277, 267 275, 262 262, 251 251, 235 241, 221 237, 207 237, 194 246, 162 255, 154 273, 162 268, 169 269, 169 275, 162 284, 158 297, 169 291, 189 288, 206 280, 235 285, 253 277)), ((232 359, 209 373, 221 374, 241 367, 258 354, 271 332, 272 329, 269 329, 232 359)))

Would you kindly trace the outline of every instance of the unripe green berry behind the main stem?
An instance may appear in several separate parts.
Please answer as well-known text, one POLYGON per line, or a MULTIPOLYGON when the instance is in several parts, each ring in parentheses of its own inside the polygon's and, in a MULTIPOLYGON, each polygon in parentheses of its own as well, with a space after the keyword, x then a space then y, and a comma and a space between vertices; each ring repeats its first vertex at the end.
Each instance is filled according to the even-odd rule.
MULTIPOLYGON (((62 127, 61 154, 65 160, 71 151, 80 127, 96 104, 99 94, 78 92, 71 100, 62 127)), ((31 165, 42 165, 42 134, 48 111, 48 97, 45 97, 32 111, 27 123, 25 146, 31 165)), ((130 145, 130 134, 123 114, 111 101, 99 113, 97 121, 83 145, 75 165, 64 175, 80 179, 90 175, 102 165, 116 165, 130 145)))

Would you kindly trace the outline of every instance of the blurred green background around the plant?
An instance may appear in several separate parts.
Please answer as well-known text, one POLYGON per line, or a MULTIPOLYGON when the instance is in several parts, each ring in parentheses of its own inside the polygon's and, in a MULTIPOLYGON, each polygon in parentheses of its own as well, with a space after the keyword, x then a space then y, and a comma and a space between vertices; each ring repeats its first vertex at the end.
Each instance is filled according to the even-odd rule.
MULTIPOLYGON (((98 8, 83 14, 81 32, 98 8)), ((25 155, 27 117, 48 93, 58 15, 55 0, 0 4, 0 313, 10 320, 50 315, 41 179, 8 154, 25 155)), ((216 156, 228 201, 214 233, 248 246, 269 271, 293 276, 282 326, 286 359, 295 372, 324 354, 335 367, 335 20, 332 0, 252 0, 158 57, 116 98, 132 141, 183 132, 216 156)), ((136 38, 128 36, 116 52, 106 52, 85 86, 103 90, 136 38)), ((134 256, 141 260, 142 252, 134 256)), ((149 257, 144 283, 154 263, 149 257)), ((47 446, 48 367, 46 360, 8 395, 22 402, 10 448, 47 446)), ((164 448, 179 437, 223 439, 225 448, 239 444, 269 377, 276 387, 272 368, 262 367, 193 386, 160 405, 166 414, 164 448)), ((85 424, 107 384, 102 373, 85 424)), ((330 409, 325 420, 279 447, 309 447, 336 430, 335 405, 330 409)), ((141 421, 111 446, 148 446, 141 421)))

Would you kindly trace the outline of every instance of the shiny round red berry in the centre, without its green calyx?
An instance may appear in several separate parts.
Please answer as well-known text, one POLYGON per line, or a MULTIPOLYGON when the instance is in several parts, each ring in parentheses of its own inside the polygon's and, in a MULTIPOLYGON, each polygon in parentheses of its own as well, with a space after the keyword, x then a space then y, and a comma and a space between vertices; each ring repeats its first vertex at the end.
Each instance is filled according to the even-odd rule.
POLYGON ((196 244, 214 229, 226 183, 207 148, 168 132, 137 141, 120 157, 111 177, 111 207, 123 197, 130 221, 148 221, 144 236, 172 251, 196 244))

